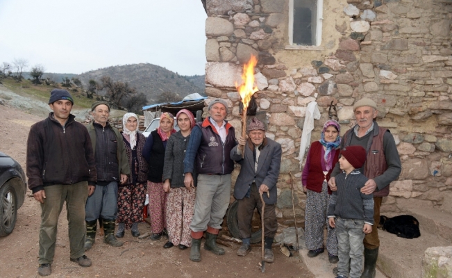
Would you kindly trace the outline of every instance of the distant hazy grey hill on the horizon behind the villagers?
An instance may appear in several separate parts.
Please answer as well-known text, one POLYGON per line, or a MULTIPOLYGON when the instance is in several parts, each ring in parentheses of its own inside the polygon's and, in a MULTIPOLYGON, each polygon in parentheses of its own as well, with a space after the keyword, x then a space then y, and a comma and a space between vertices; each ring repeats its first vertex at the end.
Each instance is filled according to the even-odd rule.
POLYGON ((194 92, 204 95, 205 76, 181 76, 158 65, 140 63, 135 65, 117 65, 99 70, 92 70, 74 76, 87 88, 88 81, 99 81, 102 76, 110 76, 113 81, 128 82, 138 92, 147 96, 149 104, 156 103, 162 92, 174 92, 181 96, 194 92))

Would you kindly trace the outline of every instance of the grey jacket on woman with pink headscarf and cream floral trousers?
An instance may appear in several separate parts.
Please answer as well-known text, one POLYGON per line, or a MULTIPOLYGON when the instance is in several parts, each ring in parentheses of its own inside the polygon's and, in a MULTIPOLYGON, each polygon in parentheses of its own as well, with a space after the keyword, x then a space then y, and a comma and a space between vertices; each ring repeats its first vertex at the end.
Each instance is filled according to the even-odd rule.
MULTIPOLYGON (((187 150, 190 135, 183 137, 181 131, 178 131, 168 139, 165 149, 165 163, 163 164, 163 179, 170 180, 171 187, 184 187, 183 179, 185 178, 183 160, 187 150)), ((196 170, 192 173, 193 183, 196 186, 196 170)))

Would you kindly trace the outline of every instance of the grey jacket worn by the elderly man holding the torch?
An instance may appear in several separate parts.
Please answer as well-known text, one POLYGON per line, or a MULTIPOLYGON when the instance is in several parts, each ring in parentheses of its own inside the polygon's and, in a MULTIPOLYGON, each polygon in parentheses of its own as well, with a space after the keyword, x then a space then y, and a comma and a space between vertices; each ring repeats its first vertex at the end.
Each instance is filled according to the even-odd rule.
POLYGON ((242 154, 237 154, 237 147, 239 145, 231 150, 231 158, 242 165, 237 181, 235 181, 235 199, 243 199, 249 190, 249 186, 255 181, 258 188, 262 183, 269 188, 270 197, 267 197, 267 194, 263 195, 265 204, 275 204, 277 199, 276 183, 281 167, 281 145, 269 138, 264 139, 260 149, 257 171, 254 167, 254 145, 251 140, 248 139, 244 147, 244 159, 242 159, 242 154))

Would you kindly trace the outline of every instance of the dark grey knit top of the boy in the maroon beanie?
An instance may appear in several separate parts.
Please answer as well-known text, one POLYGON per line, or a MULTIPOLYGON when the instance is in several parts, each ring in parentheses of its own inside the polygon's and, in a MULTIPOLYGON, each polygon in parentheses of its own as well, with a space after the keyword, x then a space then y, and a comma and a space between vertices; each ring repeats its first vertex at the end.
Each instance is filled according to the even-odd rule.
POLYGON ((337 191, 333 191, 328 206, 328 218, 364 220, 374 224, 374 195, 365 195, 360 189, 367 177, 355 169, 350 174, 342 172, 336 176, 337 191))

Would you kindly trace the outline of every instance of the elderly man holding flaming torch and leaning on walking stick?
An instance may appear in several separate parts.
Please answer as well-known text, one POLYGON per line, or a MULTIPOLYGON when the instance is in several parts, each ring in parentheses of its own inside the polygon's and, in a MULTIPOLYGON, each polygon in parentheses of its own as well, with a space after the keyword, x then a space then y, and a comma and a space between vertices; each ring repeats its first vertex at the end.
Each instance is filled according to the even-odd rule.
POLYGON ((239 145, 231 150, 231 158, 240 163, 240 174, 235 181, 234 197, 239 201, 237 218, 239 222, 242 246, 237 255, 246 256, 251 251, 251 220, 254 208, 262 210, 262 195, 265 202, 264 231, 265 255, 268 263, 273 263, 274 255, 271 245, 278 229, 275 204, 277 199, 276 183, 281 167, 281 145, 265 137, 265 125, 256 117, 248 124, 248 140, 239 138, 239 145, 244 146, 244 158, 239 145))

